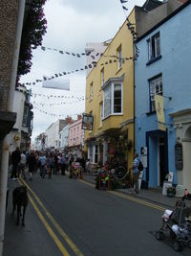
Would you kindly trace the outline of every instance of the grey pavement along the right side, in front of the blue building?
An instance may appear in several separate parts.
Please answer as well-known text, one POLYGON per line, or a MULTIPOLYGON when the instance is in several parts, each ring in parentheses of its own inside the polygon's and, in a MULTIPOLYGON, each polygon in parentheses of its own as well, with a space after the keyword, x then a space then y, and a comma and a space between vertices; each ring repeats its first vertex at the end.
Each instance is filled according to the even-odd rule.
MULTIPOLYGON (((83 179, 86 181, 89 181, 93 184, 96 184, 96 177, 95 175, 83 175, 83 179)), ((162 195, 162 188, 149 188, 149 189, 141 189, 138 194, 135 194, 133 188, 121 188, 121 189, 115 189, 115 191, 130 195, 132 197, 145 199, 147 201, 151 201, 153 203, 158 203, 160 205, 163 205, 167 209, 174 209, 176 201, 180 198, 173 197, 169 198, 167 196, 162 195)))

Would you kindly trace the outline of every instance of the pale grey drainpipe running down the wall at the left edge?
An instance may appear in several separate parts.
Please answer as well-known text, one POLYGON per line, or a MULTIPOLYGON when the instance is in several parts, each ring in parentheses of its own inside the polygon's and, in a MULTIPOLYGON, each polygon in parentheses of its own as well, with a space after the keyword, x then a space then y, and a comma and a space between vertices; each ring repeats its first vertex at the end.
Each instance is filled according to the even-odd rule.
MULTIPOLYGON (((18 4, 17 13, 17 24, 16 33, 14 41, 14 51, 11 64, 11 81, 10 90, 8 98, 8 111, 13 111, 13 98, 15 90, 15 81, 17 75, 17 66, 20 50, 20 42, 23 28, 23 18, 25 12, 25 0, 20 0, 18 4)), ((8 168, 9 168, 9 146, 10 139, 9 134, 6 135, 2 142, 2 158, 0 167, 0 256, 3 255, 3 245, 4 245, 4 231, 5 231, 5 217, 6 217, 6 196, 7 196, 7 186, 8 186, 8 168)))

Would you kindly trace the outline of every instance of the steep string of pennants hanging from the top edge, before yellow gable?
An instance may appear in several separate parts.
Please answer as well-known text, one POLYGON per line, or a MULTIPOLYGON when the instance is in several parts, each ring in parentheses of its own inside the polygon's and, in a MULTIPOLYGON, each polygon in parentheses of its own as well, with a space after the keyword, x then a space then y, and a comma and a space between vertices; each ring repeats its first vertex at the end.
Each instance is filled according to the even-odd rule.
POLYGON ((135 31, 135 28, 134 28, 134 25, 135 24, 132 24, 126 14, 126 11, 128 11, 128 9, 124 6, 125 3, 127 3, 128 1, 127 0, 120 0, 120 3, 121 3, 121 6, 122 6, 122 9, 123 9, 123 12, 125 13, 125 16, 126 16, 126 20, 127 20, 127 28, 128 30, 131 32, 132 36, 133 36, 133 42, 134 42, 134 46, 135 46, 135 60, 138 59, 138 56, 139 56, 139 50, 138 50, 138 46, 136 44, 137 42, 137 36, 138 34, 136 33, 135 31))

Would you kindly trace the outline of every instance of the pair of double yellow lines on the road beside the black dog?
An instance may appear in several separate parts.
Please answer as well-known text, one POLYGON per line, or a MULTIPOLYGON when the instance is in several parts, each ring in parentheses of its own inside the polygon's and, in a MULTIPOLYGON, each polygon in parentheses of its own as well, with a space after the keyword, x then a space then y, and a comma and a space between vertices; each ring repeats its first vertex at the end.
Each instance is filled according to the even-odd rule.
MULTIPOLYGON (((66 232, 59 226, 59 224, 53 219, 53 216, 51 215, 51 213, 46 209, 46 207, 44 206, 44 204, 42 203, 42 201, 37 197, 37 195, 34 193, 34 191, 32 191, 31 187, 25 182, 25 180, 23 180, 20 177, 19 180, 20 184, 24 184, 27 188, 28 191, 31 192, 33 198, 36 199, 37 203, 39 204, 39 206, 42 208, 42 210, 44 211, 44 213, 46 214, 46 216, 48 217, 49 221, 52 222, 54 228, 56 229, 56 231, 58 232, 58 234, 65 240, 65 242, 67 244, 69 244, 69 246, 71 247, 71 249, 74 251, 74 254, 77 256, 84 256, 83 253, 77 248, 77 246, 73 243, 73 241, 69 238, 69 236, 66 234, 66 232)), ((60 252, 62 253, 62 255, 64 256, 70 256, 70 253, 67 251, 67 249, 65 248, 65 246, 60 242, 59 238, 55 235, 55 233, 53 232, 52 227, 50 226, 50 224, 45 220, 45 218, 43 217, 41 211, 39 210, 37 204, 34 202, 34 200, 32 199, 32 197, 30 196, 30 194, 28 193, 28 197, 32 203, 32 206, 38 216, 38 218, 40 219, 40 221, 42 221, 42 223, 44 224, 45 228, 47 229, 47 231, 49 232, 50 236, 53 238, 54 243, 57 245, 57 247, 59 248, 60 252)))

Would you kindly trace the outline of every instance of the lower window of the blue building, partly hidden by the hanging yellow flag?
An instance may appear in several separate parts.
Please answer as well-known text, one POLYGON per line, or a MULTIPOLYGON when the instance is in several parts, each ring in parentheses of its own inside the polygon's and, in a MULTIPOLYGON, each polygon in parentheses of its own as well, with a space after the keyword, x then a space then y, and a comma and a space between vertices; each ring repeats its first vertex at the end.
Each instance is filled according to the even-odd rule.
POLYGON ((156 110, 155 107, 155 95, 162 95, 162 77, 150 80, 150 110, 151 112, 156 110))

